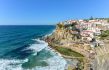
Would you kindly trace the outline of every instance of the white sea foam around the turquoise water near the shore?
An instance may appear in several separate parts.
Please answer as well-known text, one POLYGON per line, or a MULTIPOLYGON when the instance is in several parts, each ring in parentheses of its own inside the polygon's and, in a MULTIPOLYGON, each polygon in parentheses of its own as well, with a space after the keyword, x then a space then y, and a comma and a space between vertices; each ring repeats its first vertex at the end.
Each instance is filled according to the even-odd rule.
POLYGON ((48 66, 41 67, 36 66, 32 69, 23 69, 22 64, 28 61, 27 59, 24 60, 9 60, 9 59, 0 59, 0 70, 64 70, 66 66, 66 61, 59 53, 56 53, 53 49, 48 47, 48 44, 40 39, 34 39, 39 42, 39 44, 31 44, 30 47, 27 49, 31 49, 37 53, 40 52, 42 49, 46 49, 53 54, 53 57, 48 58, 45 60, 48 63, 48 66))

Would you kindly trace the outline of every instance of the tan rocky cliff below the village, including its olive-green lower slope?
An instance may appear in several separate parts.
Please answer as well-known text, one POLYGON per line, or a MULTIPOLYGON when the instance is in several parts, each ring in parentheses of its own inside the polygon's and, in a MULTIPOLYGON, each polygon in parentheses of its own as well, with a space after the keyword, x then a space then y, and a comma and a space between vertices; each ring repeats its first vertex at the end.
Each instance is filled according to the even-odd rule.
POLYGON ((88 70, 90 68, 88 58, 93 58, 90 53, 92 49, 88 42, 82 41, 80 29, 77 28, 77 25, 78 22, 59 23, 56 30, 50 36, 47 36, 45 41, 62 55, 79 60, 82 64, 81 70, 88 70))

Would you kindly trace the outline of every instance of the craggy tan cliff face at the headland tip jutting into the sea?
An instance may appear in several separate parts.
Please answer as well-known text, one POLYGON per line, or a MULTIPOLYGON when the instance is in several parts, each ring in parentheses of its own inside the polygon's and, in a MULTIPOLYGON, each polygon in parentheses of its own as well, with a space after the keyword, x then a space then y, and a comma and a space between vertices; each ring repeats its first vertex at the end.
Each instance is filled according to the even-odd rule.
POLYGON ((73 30, 75 25, 70 28, 71 25, 64 25, 62 23, 57 24, 56 30, 52 35, 47 37, 48 42, 61 43, 63 40, 65 41, 77 41, 80 38, 79 32, 73 30))

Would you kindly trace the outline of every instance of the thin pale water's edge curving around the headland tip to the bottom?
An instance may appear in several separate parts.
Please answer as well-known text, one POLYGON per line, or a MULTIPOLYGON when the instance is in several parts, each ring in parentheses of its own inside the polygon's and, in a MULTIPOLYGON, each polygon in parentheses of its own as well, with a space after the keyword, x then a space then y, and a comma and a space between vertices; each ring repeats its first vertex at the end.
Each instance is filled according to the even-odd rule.
MULTIPOLYGON (((78 68, 77 65, 79 63, 81 63, 81 60, 79 60, 78 58, 74 58, 74 56, 66 56, 66 55, 60 53, 58 50, 56 50, 54 48, 54 46, 52 46, 49 42, 46 41, 46 38, 49 37, 49 36, 51 36, 55 31, 56 31, 56 28, 50 34, 45 35, 44 36, 44 41, 48 44, 49 49, 52 49, 52 51, 55 52, 56 54, 58 54, 58 56, 61 56, 63 59, 65 59, 65 61, 67 63, 66 66, 65 66, 65 68, 64 68, 65 70, 73 70, 75 68, 78 68), (74 64, 74 61, 77 61, 77 62, 74 64)), ((76 51, 74 51, 74 52, 76 52, 76 51)), ((82 60, 82 62, 83 62, 83 60, 82 60)), ((83 65, 81 65, 81 66, 83 67, 83 65)))

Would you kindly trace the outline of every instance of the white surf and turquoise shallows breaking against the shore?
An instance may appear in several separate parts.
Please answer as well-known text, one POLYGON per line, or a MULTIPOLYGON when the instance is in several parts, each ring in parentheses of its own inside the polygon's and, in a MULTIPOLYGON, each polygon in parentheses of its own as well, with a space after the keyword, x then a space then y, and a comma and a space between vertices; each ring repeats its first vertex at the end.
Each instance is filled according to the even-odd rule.
POLYGON ((66 66, 64 58, 48 47, 45 41, 34 40, 36 44, 23 49, 32 50, 33 54, 26 59, 0 59, 0 70, 64 70, 66 66), (44 63, 47 65, 44 66, 44 63))

